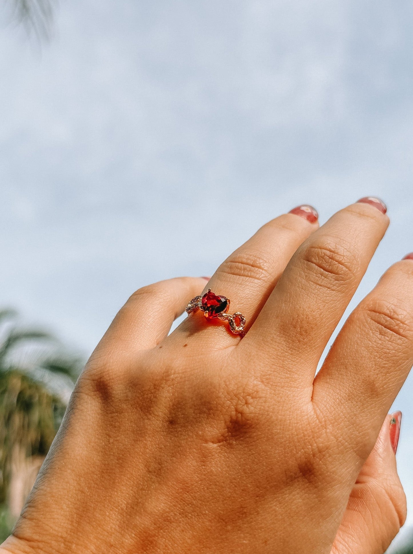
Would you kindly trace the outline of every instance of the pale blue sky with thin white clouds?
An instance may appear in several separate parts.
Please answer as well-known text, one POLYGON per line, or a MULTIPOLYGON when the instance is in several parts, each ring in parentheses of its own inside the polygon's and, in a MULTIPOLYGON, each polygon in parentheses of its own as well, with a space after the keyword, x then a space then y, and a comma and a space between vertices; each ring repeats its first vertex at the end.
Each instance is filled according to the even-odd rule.
POLYGON ((350 308, 413 251, 410 1, 61 0, 42 44, 0 23, 0 305, 81 355, 134 290, 301 203, 388 204, 350 308))

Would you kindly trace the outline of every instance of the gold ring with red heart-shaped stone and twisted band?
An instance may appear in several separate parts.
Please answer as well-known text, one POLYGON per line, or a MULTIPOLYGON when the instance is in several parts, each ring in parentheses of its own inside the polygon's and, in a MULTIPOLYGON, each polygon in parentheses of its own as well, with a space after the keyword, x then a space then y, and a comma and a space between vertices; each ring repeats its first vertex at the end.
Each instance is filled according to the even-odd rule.
POLYGON ((230 299, 226 296, 217 295, 208 289, 204 296, 195 296, 185 308, 187 314, 192 314, 196 310, 202 310, 206 319, 215 319, 228 321, 231 331, 234 335, 244 336, 245 317, 241 312, 235 312, 233 315, 227 314, 230 299))

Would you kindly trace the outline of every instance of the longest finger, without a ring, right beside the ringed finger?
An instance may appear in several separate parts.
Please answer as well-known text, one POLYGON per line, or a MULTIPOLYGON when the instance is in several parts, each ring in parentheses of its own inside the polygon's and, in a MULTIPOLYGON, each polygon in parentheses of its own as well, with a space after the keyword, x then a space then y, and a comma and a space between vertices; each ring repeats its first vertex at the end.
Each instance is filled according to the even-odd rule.
POLYGON ((385 212, 378 199, 363 198, 335 213, 293 255, 243 341, 259 348, 270 379, 273 360, 277 378, 312 386, 323 350, 389 225, 385 212), (275 360, 276 351, 286 363, 275 360))

